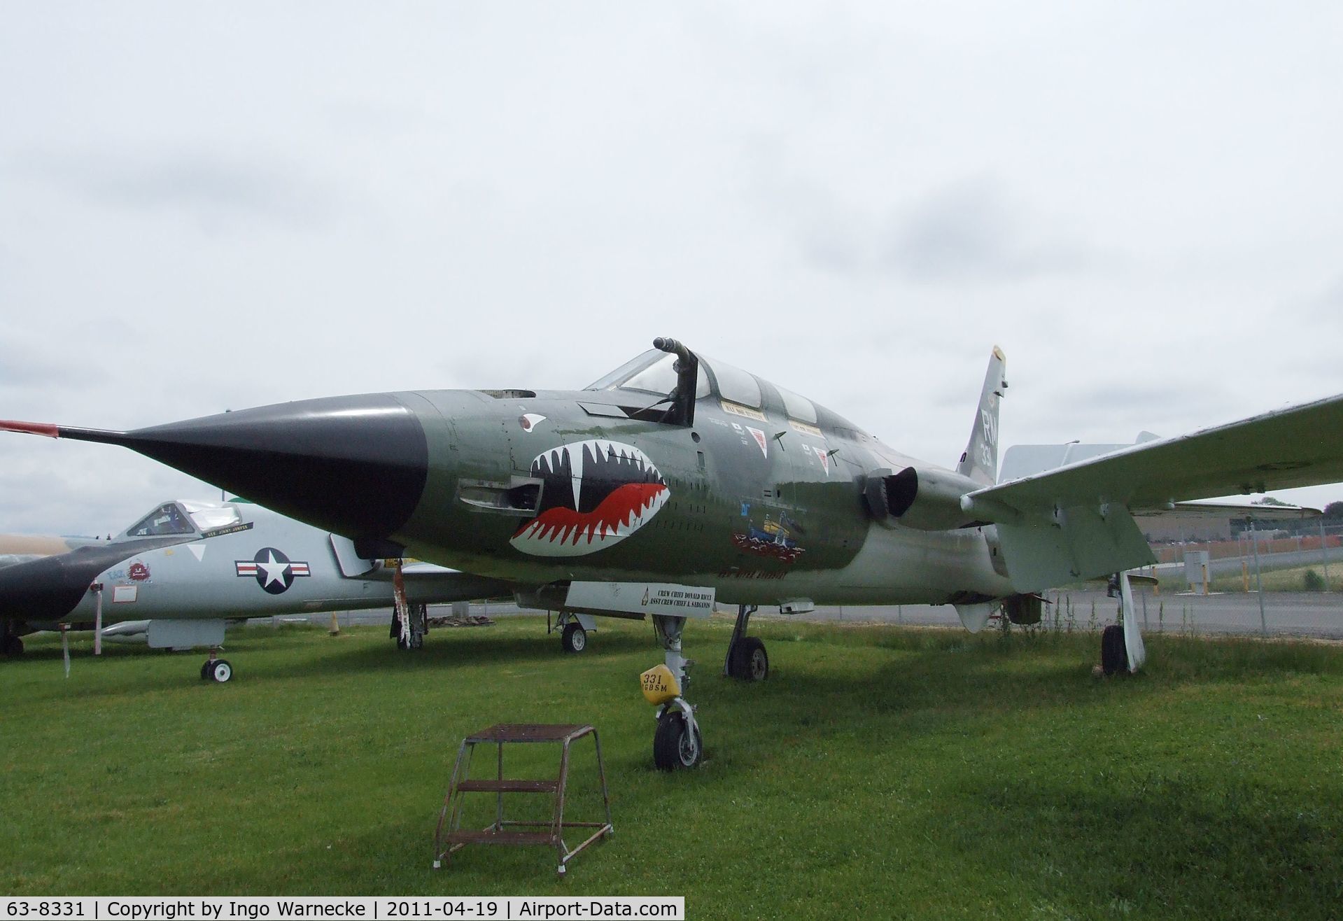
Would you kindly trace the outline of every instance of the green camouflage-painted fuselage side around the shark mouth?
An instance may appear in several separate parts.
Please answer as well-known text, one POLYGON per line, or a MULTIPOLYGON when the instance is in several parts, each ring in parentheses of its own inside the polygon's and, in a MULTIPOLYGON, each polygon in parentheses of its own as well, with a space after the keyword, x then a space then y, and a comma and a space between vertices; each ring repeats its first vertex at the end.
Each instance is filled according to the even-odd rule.
MULTIPOLYGON (((725 411, 713 389, 697 401, 690 427, 582 408, 657 400, 622 391, 398 393, 428 435, 428 477, 415 513, 389 537, 422 559, 497 579, 533 585, 674 580, 713 587, 729 604, 792 597, 941 604, 966 595, 1011 593, 992 568, 983 529, 901 533, 873 525, 864 503, 866 471, 920 462, 823 407, 817 407, 813 431, 796 427, 778 389, 766 381, 760 381, 761 419, 725 411), (520 420, 526 415, 544 422, 524 428, 520 420), (764 448, 748 427, 764 432, 764 448), (461 499, 463 479, 502 487, 512 477, 530 477, 533 459, 595 439, 638 448, 666 482, 665 505, 629 540, 584 556, 537 556, 510 542, 530 516, 461 499), (767 518, 791 525, 787 540, 799 553, 788 559, 741 545, 740 538, 749 540, 752 528, 761 530, 767 518)), ((563 477, 543 478, 543 495, 563 491, 563 477)))

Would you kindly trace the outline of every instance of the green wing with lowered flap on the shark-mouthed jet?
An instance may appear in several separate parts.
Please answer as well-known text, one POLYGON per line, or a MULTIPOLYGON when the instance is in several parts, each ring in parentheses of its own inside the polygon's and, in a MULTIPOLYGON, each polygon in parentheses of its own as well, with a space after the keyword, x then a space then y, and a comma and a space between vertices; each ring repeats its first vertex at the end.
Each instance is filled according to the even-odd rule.
POLYGON ((1038 592, 1154 561, 1135 513, 1343 481, 1343 395, 1159 439, 975 490, 1013 585, 1038 592))

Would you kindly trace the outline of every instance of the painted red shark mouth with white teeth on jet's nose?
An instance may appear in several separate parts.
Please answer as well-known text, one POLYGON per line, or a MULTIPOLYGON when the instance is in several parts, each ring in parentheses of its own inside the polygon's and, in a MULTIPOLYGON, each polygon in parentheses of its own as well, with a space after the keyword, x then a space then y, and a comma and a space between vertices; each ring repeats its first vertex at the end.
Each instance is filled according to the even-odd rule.
POLYGON ((672 491, 643 451, 590 439, 532 460, 541 507, 509 542, 532 556, 584 556, 619 544, 646 525, 672 491))

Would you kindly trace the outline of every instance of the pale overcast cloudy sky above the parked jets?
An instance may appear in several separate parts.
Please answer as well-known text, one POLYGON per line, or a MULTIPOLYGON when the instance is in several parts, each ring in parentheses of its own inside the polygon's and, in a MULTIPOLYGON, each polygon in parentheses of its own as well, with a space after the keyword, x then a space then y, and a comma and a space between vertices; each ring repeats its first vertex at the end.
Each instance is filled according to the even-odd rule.
MULTIPOLYGON (((659 334, 937 463, 994 344, 1005 444, 1343 392, 1334 0, 3 12, 0 418, 582 387, 659 334)), ((0 436, 0 530, 212 494, 0 436)))

